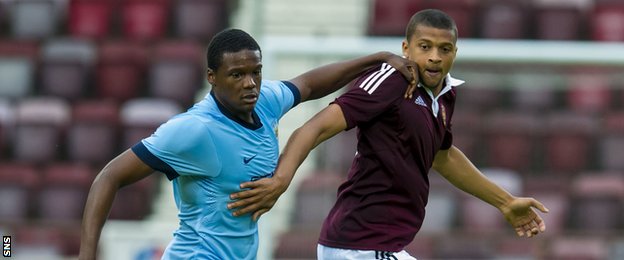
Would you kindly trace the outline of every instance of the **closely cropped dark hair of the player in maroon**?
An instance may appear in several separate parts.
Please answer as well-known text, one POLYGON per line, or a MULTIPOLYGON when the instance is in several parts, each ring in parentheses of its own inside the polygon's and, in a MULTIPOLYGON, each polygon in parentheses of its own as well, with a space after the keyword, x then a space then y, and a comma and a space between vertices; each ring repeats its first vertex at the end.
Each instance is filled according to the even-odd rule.
POLYGON ((457 25, 452 17, 438 9, 425 9, 418 11, 410 18, 405 29, 405 39, 409 42, 418 25, 426 25, 433 28, 452 30, 457 40, 457 25))

